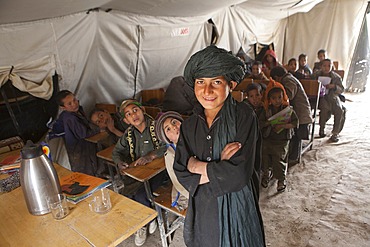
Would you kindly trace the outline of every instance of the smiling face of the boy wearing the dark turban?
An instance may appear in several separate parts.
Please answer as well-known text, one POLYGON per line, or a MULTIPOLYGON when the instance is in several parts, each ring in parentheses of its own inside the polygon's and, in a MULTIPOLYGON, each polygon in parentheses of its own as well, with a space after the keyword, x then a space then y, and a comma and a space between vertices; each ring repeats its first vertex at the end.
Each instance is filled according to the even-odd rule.
POLYGON ((230 89, 236 86, 236 82, 229 83, 223 76, 214 78, 195 79, 194 93, 205 112, 217 112, 222 108, 230 89))

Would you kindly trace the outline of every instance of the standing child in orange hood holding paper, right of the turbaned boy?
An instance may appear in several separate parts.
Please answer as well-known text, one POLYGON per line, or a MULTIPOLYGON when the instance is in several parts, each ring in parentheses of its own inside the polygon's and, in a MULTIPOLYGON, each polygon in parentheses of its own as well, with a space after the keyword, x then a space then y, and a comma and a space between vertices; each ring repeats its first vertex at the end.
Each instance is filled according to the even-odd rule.
POLYGON ((293 129, 299 124, 298 117, 289 106, 284 86, 272 79, 266 89, 264 104, 265 114, 259 119, 263 136, 261 184, 267 188, 273 175, 278 180, 277 191, 283 192, 286 188, 289 142, 293 136, 293 129), (282 115, 281 120, 270 119, 282 111, 287 113, 282 115))

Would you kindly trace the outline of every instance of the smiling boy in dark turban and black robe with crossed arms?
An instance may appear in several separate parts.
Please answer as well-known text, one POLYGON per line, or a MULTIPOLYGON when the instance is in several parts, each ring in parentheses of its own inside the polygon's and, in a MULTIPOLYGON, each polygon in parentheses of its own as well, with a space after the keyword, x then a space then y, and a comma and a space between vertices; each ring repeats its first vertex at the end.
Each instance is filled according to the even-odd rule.
POLYGON ((257 117, 230 93, 244 78, 244 64, 208 46, 191 56, 184 77, 198 101, 181 125, 174 163, 179 182, 189 191, 185 243, 264 246, 252 180, 259 150, 257 117))

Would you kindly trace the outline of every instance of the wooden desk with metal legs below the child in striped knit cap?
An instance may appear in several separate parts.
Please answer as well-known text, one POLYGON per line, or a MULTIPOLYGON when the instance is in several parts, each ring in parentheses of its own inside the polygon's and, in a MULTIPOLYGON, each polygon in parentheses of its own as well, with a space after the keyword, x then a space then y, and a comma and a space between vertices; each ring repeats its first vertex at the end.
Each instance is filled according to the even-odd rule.
POLYGON ((186 209, 179 211, 176 207, 172 207, 171 201, 172 183, 158 188, 154 192, 158 195, 154 198, 155 209, 158 212, 158 228, 161 235, 163 247, 168 247, 172 241, 173 233, 184 224, 186 209), (168 220, 168 214, 176 216, 176 219, 171 223, 168 220))

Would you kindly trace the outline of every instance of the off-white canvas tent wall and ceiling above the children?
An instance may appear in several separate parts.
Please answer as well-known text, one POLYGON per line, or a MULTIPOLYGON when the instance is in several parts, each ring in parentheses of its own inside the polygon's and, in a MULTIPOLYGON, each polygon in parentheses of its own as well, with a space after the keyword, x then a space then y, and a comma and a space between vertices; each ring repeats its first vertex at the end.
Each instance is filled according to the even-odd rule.
POLYGON ((273 42, 281 62, 306 53, 312 65, 325 48, 347 70, 366 6, 365 0, 1 1, 0 78, 12 66, 17 73, 34 63, 45 76, 55 68, 60 88, 75 92, 87 109, 118 104, 181 75, 190 55, 211 43, 209 19, 216 45, 234 53, 273 42), (37 64, 45 59, 47 68, 37 64))

